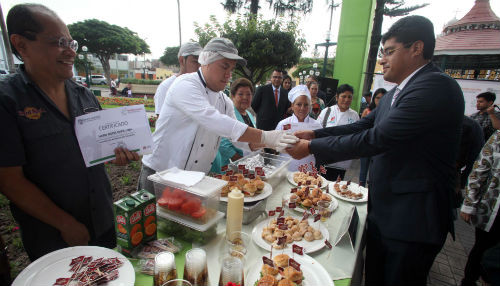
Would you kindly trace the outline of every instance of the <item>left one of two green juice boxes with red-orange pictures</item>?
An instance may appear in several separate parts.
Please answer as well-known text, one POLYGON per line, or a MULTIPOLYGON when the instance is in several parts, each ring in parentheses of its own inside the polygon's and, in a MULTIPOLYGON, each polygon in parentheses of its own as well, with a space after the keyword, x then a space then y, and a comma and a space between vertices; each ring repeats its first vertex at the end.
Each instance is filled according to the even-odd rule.
POLYGON ((114 203, 116 242, 118 249, 127 256, 141 244, 144 238, 141 203, 132 197, 124 197, 114 203))

